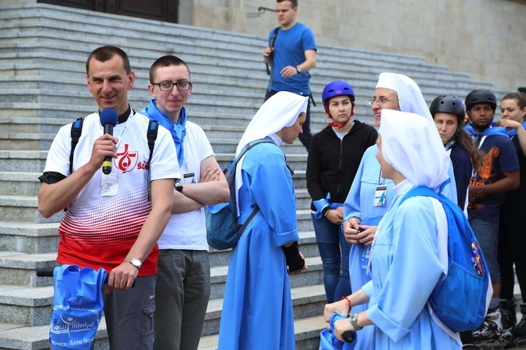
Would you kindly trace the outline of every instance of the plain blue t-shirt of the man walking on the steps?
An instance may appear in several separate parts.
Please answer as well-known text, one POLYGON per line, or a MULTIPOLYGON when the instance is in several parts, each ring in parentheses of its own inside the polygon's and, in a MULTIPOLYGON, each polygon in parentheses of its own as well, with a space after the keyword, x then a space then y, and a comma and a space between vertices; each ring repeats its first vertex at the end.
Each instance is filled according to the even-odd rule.
MULTIPOLYGON (((269 45, 274 36, 274 29, 269 34, 269 45)), ((281 69, 285 66, 297 66, 305 62, 305 51, 316 50, 314 34, 309 27, 297 22, 292 28, 279 29, 274 41, 274 74, 271 90, 288 91, 295 94, 308 95, 311 93, 309 87, 309 73, 299 73, 290 78, 281 76, 281 69)), ((269 83, 270 84, 270 83, 269 83)), ((269 89, 270 86, 267 86, 269 89)))

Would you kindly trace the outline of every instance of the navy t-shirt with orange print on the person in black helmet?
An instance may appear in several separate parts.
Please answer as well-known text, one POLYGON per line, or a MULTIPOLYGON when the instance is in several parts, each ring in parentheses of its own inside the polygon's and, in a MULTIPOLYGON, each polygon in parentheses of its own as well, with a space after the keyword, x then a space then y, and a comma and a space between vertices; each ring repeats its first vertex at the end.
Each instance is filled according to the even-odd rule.
MULTIPOLYGON (((480 151, 486 156, 483 165, 470 181, 471 186, 485 186, 504 179, 504 172, 518 172, 519 163, 513 143, 501 135, 487 136, 480 145, 480 151)), ((469 218, 480 218, 485 221, 499 221, 499 207, 504 202, 506 193, 496 195, 477 195, 469 198, 469 218)))

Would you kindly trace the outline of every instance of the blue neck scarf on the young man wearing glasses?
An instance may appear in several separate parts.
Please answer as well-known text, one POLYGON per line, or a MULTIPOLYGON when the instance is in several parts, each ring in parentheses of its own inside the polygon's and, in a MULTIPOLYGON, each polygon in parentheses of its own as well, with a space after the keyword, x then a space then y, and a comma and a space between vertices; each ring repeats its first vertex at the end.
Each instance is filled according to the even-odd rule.
POLYGON ((157 108, 156 100, 151 99, 150 105, 144 107, 141 114, 147 116, 150 119, 157 120, 160 125, 166 127, 170 134, 172 134, 172 139, 175 142, 175 149, 177 150, 177 160, 179 160, 179 166, 182 166, 182 161, 184 160, 184 147, 182 142, 184 141, 184 136, 187 134, 185 125, 187 124, 187 110, 182 107, 179 113, 179 120, 177 124, 173 124, 170 117, 157 108))

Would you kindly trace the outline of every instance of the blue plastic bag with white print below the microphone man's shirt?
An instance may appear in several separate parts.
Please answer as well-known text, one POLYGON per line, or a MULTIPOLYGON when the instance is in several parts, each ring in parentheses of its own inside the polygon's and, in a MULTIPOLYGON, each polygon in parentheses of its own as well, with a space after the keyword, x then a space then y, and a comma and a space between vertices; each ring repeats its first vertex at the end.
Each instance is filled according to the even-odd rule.
POLYGON ((102 286, 106 275, 104 269, 55 267, 49 328, 52 349, 90 349, 104 309, 102 286))

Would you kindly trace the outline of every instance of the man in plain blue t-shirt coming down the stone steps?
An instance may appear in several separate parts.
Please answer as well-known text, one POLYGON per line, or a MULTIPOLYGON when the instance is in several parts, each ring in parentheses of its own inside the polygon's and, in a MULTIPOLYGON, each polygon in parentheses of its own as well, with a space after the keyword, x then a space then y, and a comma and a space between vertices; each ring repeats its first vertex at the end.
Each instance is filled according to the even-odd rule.
MULTIPOLYGON (((311 94, 309 86, 311 69, 316 66, 316 42, 309 27, 296 20, 297 0, 277 0, 276 12, 281 25, 276 34, 269 34, 269 47, 263 51, 269 62, 271 80, 267 86, 265 101, 279 91, 294 92, 303 96, 311 94)), ((299 141, 309 151, 312 134, 310 128, 311 107, 307 105, 306 120, 299 141)))

